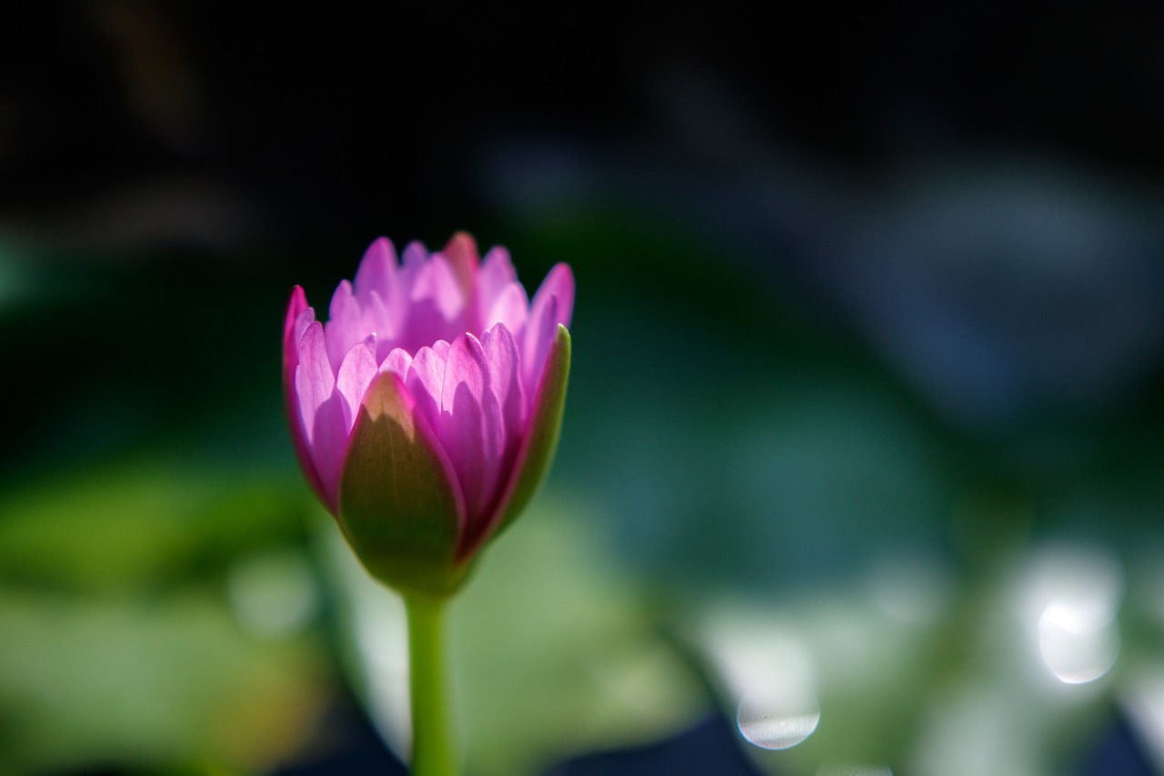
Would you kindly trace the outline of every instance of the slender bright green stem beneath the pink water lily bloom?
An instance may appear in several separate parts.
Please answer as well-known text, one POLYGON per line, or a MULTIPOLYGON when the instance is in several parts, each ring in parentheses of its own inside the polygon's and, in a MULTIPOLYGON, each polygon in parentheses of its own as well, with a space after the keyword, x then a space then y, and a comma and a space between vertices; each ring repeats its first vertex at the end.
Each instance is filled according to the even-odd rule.
POLYGON ((445 601, 406 595, 413 776, 455 776, 445 687, 445 601))

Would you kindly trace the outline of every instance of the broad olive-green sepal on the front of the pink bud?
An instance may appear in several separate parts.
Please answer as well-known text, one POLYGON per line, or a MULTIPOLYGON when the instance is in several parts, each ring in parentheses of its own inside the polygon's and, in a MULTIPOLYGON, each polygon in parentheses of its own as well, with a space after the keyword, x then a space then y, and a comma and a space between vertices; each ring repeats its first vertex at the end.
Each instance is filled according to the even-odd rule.
POLYGON ((435 435, 391 373, 364 394, 340 474, 340 528, 368 572, 402 592, 443 598, 461 580, 464 503, 435 435))

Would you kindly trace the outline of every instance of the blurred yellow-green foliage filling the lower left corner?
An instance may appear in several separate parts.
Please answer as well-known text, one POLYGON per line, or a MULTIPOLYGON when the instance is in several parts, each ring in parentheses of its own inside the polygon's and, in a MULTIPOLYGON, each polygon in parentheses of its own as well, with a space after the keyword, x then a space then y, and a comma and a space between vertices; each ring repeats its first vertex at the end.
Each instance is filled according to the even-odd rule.
POLYGON ((3 770, 236 770, 298 750, 333 692, 324 643, 270 637, 228 590, 256 551, 301 545, 286 482, 154 460, 0 502, 3 770))

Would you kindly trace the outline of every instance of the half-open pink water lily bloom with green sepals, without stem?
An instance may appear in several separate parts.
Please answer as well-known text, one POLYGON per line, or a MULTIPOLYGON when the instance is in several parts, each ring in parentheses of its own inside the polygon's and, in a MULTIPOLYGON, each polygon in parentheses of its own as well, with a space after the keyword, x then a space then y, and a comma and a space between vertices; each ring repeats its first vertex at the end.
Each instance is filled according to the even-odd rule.
POLYGON ((460 584, 553 458, 569 372, 569 267, 530 302, 504 248, 468 234, 397 262, 381 238, 321 324, 301 288, 284 325, 284 393, 308 484, 381 580, 460 584))

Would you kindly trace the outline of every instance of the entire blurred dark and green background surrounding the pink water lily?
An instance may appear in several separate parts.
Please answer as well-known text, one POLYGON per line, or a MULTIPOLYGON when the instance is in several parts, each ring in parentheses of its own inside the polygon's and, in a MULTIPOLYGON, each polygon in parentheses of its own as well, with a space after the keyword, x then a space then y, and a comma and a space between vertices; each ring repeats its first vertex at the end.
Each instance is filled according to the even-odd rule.
POLYGON ((577 278, 555 470, 454 605, 469 773, 1164 773, 1162 36, 7 3, 0 773, 402 773, 279 332, 457 230, 577 278))

